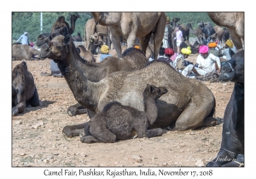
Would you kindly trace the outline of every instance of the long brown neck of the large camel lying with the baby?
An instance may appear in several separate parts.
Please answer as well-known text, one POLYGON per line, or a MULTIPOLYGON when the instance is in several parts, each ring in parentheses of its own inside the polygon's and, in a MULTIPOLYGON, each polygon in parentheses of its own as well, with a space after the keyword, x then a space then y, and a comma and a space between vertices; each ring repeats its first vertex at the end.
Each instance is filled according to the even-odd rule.
POLYGON ((97 106, 98 93, 101 93, 101 90, 98 89, 99 84, 90 82, 84 76, 84 72, 80 68, 84 60, 80 58, 74 44, 71 43, 68 45, 66 61, 58 62, 58 66, 75 99, 84 107, 94 111, 97 106))

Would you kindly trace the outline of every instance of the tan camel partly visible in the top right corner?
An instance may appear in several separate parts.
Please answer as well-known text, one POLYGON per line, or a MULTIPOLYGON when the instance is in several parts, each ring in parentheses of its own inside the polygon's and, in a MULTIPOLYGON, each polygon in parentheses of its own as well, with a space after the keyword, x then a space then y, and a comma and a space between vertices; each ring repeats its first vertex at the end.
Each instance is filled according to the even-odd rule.
POLYGON ((242 49, 241 40, 244 40, 244 13, 208 12, 207 14, 218 26, 227 27, 236 49, 242 49))

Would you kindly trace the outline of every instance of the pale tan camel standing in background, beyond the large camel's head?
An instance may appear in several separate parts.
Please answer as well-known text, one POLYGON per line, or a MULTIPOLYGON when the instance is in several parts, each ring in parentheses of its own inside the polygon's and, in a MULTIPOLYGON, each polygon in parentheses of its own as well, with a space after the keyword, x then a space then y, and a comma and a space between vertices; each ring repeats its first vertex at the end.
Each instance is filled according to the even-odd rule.
POLYGON ((94 19, 87 20, 84 26, 84 42, 85 49, 90 50, 90 38, 95 34, 95 32, 99 36, 99 41, 106 43, 108 47, 110 47, 110 36, 108 32, 108 26, 102 26, 100 24, 96 25, 94 19))

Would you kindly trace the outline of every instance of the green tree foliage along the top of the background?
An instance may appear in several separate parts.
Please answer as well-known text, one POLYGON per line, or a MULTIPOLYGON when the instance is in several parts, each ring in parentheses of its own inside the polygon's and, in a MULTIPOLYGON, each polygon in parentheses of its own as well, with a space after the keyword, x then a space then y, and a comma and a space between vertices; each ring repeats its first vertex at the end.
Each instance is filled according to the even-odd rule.
MULTIPOLYGON (((17 40, 24 32, 28 32, 30 42, 36 42, 40 33, 50 32, 51 26, 55 20, 60 16, 64 16, 66 21, 70 24, 71 14, 79 14, 79 19, 76 21, 76 28, 73 36, 81 32, 82 38, 84 36, 84 26, 87 20, 90 20, 92 15, 90 12, 43 12, 43 31, 40 28, 40 14, 41 12, 13 12, 12 13, 12 39, 17 40)), ((196 28, 198 22, 208 21, 212 22, 207 13, 195 12, 166 12, 166 15, 172 20, 173 17, 180 18, 178 23, 192 23, 196 28)), ((212 22, 212 26, 215 24, 212 22)))

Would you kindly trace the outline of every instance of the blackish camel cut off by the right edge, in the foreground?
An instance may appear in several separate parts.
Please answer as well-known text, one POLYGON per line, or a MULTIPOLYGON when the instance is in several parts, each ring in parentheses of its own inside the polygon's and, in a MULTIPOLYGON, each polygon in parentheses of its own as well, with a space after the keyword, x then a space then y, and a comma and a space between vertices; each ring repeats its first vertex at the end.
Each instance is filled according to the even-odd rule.
POLYGON ((224 112, 221 147, 207 166, 244 166, 244 50, 236 52, 221 67, 220 79, 234 82, 230 101, 224 112))

